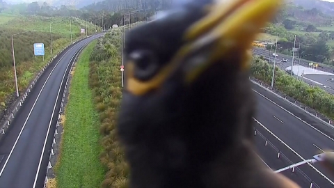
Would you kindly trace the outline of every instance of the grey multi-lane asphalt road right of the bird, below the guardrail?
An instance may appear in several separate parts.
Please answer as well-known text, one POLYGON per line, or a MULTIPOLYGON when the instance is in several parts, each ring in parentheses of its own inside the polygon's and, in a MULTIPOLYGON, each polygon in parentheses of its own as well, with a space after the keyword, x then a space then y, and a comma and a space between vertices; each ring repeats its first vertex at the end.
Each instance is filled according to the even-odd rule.
MULTIPOLYGON (((254 90, 260 93, 258 94, 255 92, 257 98, 257 114, 255 119, 264 125, 264 127, 267 127, 267 129, 273 132, 273 134, 276 134, 278 138, 285 142, 301 157, 304 159, 311 159, 313 155, 321 153, 321 150, 334 150, 334 140, 331 139, 331 137, 333 138, 334 130, 331 127, 320 123, 307 113, 304 113, 300 109, 293 107, 291 104, 280 100, 272 93, 269 93, 269 91, 265 91, 263 88, 260 88, 260 86, 256 86, 254 84, 254 90), (276 102, 276 104, 292 114, 295 114, 295 116, 298 116, 301 120, 293 116, 291 113, 281 109, 276 104, 273 104, 273 102, 270 102, 265 97, 273 102, 276 102), (321 132, 315 130, 315 128, 311 126, 321 130, 321 132, 324 132, 330 137, 328 138, 324 134, 321 134, 321 132), (321 148, 321 150, 317 147, 321 148)), ((284 146, 283 143, 280 143, 278 139, 269 134, 269 132, 261 125, 258 123, 254 123, 254 125, 257 131, 273 143, 273 145, 276 146, 276 148, 278 148, 278 150, 280 150, 280 152, 282 152, 289 160, 291 160, 292 163, 303 161, 303 159, 284 146)), ((270 146, 264 146, 264 139, 260 138, 260 136, 255 137, 259 155, 271 169, 277 170, 285 166, 289 166, 290 163, 283 159, 283 157, 278 159, 278 152, 276 150, 273 150, 270 146)), ((327 178, 334 181, 333 175, 328 174, 328 172, 319 166, 319 164, 312 165, 315 166, 317 170, 321 171, 321 173, 326 175, 327 178)), ((305 175, 300 172, 292 173, 291 170, 285 171, 283 174, 297 182, 301 187, 310 187, 310 181, 314 182, 319 187, 334 187, 328 180, 317 173, 317 171, 308 166, 308 164, 304 164, 299 169, 301 169, 305 175), (308 180, 308 178, 310 179, 308 180)))

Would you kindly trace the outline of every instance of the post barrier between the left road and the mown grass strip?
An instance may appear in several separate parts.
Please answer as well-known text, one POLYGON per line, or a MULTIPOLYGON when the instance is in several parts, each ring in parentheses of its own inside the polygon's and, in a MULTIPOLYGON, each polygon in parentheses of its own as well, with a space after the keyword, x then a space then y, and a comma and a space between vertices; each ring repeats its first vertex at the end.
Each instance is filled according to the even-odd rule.
MULTIPOLYGON (((89 37, 89 36, 88 36, 89 37)), ((44 188, 47 186, 47 182, 49 180, 48 178, 48 173, 49 173, 49 169, 52 169, 52 164, 51 164, 51 157, 52 155, 54 155, 54 146, 56 144, 56 135, 58 135, 58 127, 60 126, 60 123, 61 123, 61 114, 63 113, 63 111, 65 111, 65 97, 67 96, 67 90, 68 90, 68 84, 70 82, 70 72, 73 70, 73 65, 74 63, 77 61, 77 58, 79 56, 79 54, 82 52, 82 50, 84 49, 84 47, 86 47, 86 45, 88 45, 88 43, 86 43, 85 45, 83 45, 78 51, 77 53, 75 54, 75 57, 72 61, 72 64, 71 64, 71 67, 70 67, 70 70, 68 71, 67 73, 67 77, 66 77, 66 82, 65 82, 65 88, 64 88, 64 91, 63 91, 63 97, 61 99, 61 107, 59 109, 59 112, 58 112, 58 118, 57 118, 57 124, 56 124, 56 130, 54 131, 54 138, 53 138, 53 141, 52 141, 52 146, 51 146, 51 150, 50 150, 50 155, 49 155, 49 162, 47 164, 47 173, 45 175, 45 181, 44 181, 44 188)), ((70 62, 71 63, 71 62, 70 62)), ((62 86, 61 86, 62 87, 62 86)))

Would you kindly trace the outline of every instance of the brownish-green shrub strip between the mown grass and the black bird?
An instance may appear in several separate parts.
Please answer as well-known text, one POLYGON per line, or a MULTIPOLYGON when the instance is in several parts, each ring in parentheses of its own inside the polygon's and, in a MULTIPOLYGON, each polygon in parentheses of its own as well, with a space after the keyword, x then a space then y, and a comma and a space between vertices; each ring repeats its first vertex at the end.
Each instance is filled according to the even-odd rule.
MULTIPOLYGON (((136 26, 136 24, 133 24, 136 26)), ((104 151, 100 157, 106 167, 102 187, 127 187, 129 168, 116 137, 116 115, 122 98, 120 51, 122 27, 99 39, 90 54, 89 84, 93 88, 96 110, 100 113, 100 133, 104 151)))

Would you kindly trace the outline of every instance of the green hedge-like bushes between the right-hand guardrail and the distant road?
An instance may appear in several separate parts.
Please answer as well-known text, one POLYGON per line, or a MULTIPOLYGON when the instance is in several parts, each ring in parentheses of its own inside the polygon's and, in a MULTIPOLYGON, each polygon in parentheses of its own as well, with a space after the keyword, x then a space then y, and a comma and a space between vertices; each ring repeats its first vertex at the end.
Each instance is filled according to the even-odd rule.
MULTIPOLYGON (((267 61, 256 56, 253 57, 250 72, 253 77, 260 79, 267 84, 271 84, 273 65, 270 65, 267 61)), ((319 111, 328 116, 328 118, 334 118, 333 95, 317 86, 310 86, 304 81, 295 79, 277 67, 275 69, 274 81, 275 88, 279 91, 282 91, 286 95, 293 97, 295 100, 299 100, 308 107, 319 111)))

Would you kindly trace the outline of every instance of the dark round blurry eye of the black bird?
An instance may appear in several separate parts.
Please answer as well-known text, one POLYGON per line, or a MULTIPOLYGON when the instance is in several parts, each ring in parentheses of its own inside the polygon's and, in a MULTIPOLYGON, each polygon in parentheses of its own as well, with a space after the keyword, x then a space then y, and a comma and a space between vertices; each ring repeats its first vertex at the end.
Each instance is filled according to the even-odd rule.
POLYGON ((134 61, 134 77, 142 81, 151 79, 159 65, 154 53, 147 49, 136 50, 130 54, 130 59, 134 61))

